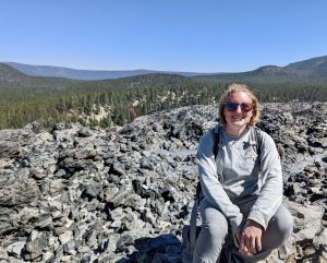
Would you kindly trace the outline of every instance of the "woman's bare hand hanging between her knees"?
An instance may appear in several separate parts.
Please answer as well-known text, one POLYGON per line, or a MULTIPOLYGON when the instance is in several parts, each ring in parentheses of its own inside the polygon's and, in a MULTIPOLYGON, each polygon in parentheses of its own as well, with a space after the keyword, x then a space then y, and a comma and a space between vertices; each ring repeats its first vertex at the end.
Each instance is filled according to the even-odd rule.
POLYGON ((247 219, 243 230, 238 234, 239 251, 244 255, 253 255, 262 250, 263 227, 247 219))

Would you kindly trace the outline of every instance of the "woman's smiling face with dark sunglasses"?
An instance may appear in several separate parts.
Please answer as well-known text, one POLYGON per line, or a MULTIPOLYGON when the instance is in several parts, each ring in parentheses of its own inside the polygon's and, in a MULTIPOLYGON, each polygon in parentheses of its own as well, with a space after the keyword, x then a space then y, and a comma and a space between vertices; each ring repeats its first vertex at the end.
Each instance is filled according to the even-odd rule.
POLYGON ((245 92, 232 93, 226 101, 223 115, 227 122, 227 130, 240 131, 245 129, 253 116, 253 101, 251 97, 245 92))

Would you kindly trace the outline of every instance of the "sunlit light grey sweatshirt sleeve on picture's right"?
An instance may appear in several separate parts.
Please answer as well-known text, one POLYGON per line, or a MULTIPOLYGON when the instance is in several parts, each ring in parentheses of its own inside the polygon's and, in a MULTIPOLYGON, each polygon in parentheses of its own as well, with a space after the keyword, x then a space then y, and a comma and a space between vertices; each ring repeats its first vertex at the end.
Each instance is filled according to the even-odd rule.
POLYGON ((263 187, 247 218, 257 222, 266 229, 282 201, 282 170, 274 140, 267 133, 261 133, 259 158, 263 187))

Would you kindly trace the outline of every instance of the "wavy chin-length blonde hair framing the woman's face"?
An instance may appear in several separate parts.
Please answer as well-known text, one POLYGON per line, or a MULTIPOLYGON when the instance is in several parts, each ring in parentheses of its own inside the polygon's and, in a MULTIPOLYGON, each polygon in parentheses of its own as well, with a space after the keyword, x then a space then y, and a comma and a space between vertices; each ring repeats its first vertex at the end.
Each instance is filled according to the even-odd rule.
POLYGON ((250 127, 254 127, 258 120, 259 120, 259 116, 261 116, 261 111, 262 111, 262 106, 259 105, 256 96, 252 93, 252 91, 250 89, 249 86, 244 85, 244 84, 231 84, 228 86, 228 88, 222 93, 222 95, 220 96, 219 99, 219 121, 222 125, 226 125, 226 118, 223 115, 223 109, 225 109, 225 105, 227 103, 227 100, 229 99, 230 95, 237 92, 244 92, 247 94, 247 96, 252 99, 253 103, 253 116, 251 117, 247 125, 250 127))

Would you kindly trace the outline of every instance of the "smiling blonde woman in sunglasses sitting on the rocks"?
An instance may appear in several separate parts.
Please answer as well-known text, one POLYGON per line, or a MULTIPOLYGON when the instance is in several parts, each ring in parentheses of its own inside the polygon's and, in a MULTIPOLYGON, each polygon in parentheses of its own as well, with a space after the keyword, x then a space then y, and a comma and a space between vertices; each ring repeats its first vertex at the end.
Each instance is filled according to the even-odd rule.
POLYGON ((193 263, 219 262, 231 236, 229 262, 257 262, 292 231, 282 206, 282 171, 272 139, 254 125, 261 106, 246 85, 232 84, 219 103, 220 124, 198 145, 202 230, 193 263), (219 133, 218 154, 213 153, 219 133), (229 234, 229 235, 228 235, 229 234))

